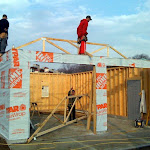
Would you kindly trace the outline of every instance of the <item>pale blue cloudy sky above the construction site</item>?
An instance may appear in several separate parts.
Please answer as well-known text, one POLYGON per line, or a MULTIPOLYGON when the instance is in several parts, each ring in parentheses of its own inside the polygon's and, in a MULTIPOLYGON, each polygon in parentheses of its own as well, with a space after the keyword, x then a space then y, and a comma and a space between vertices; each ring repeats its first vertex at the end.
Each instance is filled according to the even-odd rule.
MULTIPOLYGON (((80 20, 91 15, 90 42, 109 44, 127 57, 150 56, 150 0, 0 0, 0 8, 0 15, 7 14, 10 22, 7 49, 39 37, 76 40, 80 20)), ((61 46, 76 53, 68 45, 61 46)), ((88 51, 97 48, 88 47, 88 51)), ((40 50, 41 43, 29 49, 40 50)))

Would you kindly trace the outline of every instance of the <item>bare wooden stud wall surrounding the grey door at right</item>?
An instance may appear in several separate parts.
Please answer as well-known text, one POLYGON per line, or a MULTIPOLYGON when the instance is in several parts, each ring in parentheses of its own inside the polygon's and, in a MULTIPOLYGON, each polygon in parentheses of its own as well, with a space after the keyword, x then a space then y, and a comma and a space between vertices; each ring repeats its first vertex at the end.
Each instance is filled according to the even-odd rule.
MULTIPOLYGON (((127 81, 140 80, 141 91, 145 90, 147 110, 150 105, 150 69, 135 67, 107 68, 108 114, 127 117, 127 81)), ((144 118, 146 116, 144 115, 144 118)))

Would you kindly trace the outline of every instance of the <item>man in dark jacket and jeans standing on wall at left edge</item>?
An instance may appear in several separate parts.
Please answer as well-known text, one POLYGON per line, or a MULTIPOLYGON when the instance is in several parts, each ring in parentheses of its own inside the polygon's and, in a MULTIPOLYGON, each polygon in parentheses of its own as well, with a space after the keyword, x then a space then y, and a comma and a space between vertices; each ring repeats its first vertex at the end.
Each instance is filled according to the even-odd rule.
POLYGON ((0 56, 5 53, 8 39, 8 28, 9 22, 7 20, 7 15, 3 15, 0 20, 0 56))

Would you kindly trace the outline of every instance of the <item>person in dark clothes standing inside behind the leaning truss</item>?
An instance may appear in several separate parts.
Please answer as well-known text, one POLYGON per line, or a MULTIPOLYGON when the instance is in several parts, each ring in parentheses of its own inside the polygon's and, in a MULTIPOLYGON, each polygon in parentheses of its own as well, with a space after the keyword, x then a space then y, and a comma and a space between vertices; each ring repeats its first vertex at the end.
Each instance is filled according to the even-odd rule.
MULTIPOLYGON (((71 88, 70 91, 68 92, 68 96, 73 96, 73 95, 75 95, 75 90, 73 90, 73 88, 71 88)), ((71 107, 72 107, 75 99, 76 99, 75 97, 69 98, 69 103, 68 103, 69 112, 71 110, 71 107)), ((73 116, 73 120, 76 119, 76 116, 75 116, 75 105, 74 105, 74 107, 72 109, 72 112, 71 112, 71 114, 69 116, 69 121, 71 121, 71 118, 72 118, 71 116, 73 116)))

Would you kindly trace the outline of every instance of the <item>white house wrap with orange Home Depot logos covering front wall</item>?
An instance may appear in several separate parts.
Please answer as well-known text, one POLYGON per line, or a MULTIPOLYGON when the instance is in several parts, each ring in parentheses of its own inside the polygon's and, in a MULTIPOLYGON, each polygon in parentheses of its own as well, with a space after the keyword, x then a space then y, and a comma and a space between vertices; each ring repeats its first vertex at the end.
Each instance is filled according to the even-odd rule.
POLYGON ((97 131, 107 130, 107 66, 149 68, 149 61, 12 49, 0 58, 0 134, 7 140, 26 140, 30 134, 30 62, 96 66, 97 131))

